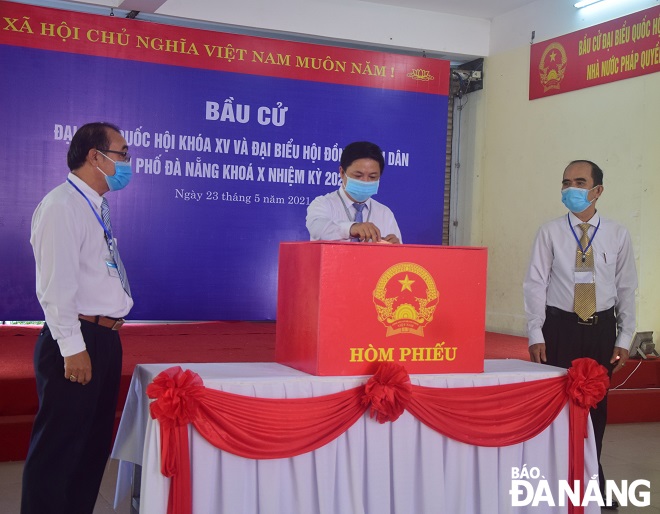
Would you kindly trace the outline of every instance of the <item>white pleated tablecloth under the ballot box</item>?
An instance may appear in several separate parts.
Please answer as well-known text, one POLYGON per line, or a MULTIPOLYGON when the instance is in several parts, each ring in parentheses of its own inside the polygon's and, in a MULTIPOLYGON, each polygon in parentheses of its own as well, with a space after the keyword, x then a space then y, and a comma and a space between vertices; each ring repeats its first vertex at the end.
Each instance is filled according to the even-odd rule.
MULTIPOLYGON (((115 505, 142 466, 141 514, 165 514, 170 480, 160 473, 160 427, 146 388, 180 365, 209 388, 262 398, 322 396, 370 377, 317 377, 276 363, 145 364, 133 373, 112 458, 120 462, 115 505)), ((484 373, 411 375, 415 385, 480 387, 562 376, 566 370, 520 360, 487 360, 484 373)), ((568 407, 521 444, 485 448, 451 440, 408 412, 380 424, 368 412, 331 443, 293 458, 252 460, 218 450, 189 428, 194 514, 493 514, 560 513, 566 507, 512 506, 514 468, 538 468, 552 490, 568 477, 568 407)), ((591 423, 585 484, 597 475, 591 423)), ((532 485, 538 480, 530 479, 532 485)), ((524 496, 522 497, 524 498, 524 496)), ((558 499, 558 495, 555 495, 558 499)), ((600 509, 590 503, 587 514, 600 509)))

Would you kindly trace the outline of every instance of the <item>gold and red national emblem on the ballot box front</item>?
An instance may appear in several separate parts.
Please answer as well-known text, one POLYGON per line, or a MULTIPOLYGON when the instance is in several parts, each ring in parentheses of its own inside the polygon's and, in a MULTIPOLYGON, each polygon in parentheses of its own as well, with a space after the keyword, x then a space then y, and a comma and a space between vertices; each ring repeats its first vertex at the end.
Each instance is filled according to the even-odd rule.
POLYGON ((408 333, 423 337, 438 305, 438 290, 426 269, 401 262, 381 275, 373 300, 378 321, 387 328, 386 336, 408 333))

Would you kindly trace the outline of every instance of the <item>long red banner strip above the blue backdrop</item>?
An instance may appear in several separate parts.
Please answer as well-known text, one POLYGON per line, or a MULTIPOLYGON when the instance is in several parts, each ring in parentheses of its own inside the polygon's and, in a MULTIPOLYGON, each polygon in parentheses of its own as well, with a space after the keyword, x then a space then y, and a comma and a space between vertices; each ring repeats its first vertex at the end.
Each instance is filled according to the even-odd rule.
POLYGON ((168 27, 0 1, 0 44, 447 95, 449 61, 168 27))

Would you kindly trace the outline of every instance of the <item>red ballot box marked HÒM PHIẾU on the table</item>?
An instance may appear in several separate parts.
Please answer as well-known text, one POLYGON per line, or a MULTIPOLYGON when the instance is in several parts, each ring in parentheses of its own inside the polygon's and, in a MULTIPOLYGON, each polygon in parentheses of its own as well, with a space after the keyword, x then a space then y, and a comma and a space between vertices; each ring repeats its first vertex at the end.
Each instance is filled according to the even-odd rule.
POLYGON ((275 360, 312 375, 484 370, 487 250, 281 243, 275 360))

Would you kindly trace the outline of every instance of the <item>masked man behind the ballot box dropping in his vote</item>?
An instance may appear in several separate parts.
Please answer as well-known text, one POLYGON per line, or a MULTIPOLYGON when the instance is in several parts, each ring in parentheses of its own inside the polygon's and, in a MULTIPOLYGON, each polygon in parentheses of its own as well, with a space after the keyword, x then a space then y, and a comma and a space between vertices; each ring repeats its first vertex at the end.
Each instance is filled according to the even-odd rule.
POLYGON ((315 198, 307 208, 310 239, 401 243, 394 214, 371 198, 384 168, 383 152, 374 143, 358 141, 344 148, 339 189, 315 198))

